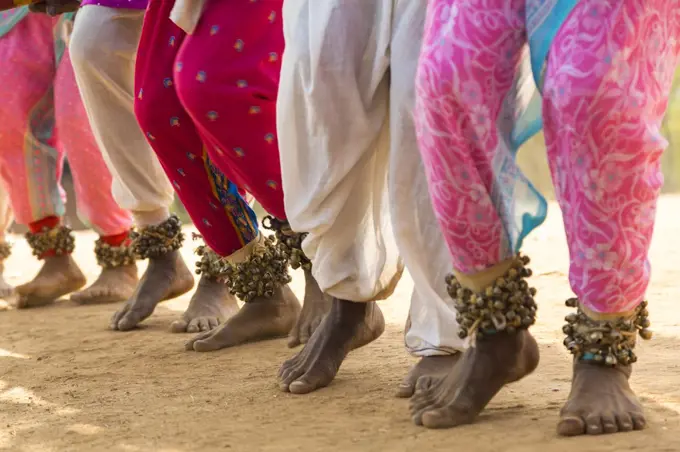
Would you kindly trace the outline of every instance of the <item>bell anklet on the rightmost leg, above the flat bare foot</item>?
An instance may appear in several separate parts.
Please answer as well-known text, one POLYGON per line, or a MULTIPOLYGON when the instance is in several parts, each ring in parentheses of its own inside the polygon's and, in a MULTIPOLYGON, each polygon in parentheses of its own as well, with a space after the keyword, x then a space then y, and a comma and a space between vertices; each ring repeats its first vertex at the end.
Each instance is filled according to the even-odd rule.
POLYGON ((652 338, 646 301, 640 303, 632 315, 611 320, 591 319, 578 298, 570 298, 566 305, 576 308, 576 312, 565 317, 564 346, 577 360, 607 366, 633 364, 637 361, 633 351, 637 335, 645 340, 652 338))

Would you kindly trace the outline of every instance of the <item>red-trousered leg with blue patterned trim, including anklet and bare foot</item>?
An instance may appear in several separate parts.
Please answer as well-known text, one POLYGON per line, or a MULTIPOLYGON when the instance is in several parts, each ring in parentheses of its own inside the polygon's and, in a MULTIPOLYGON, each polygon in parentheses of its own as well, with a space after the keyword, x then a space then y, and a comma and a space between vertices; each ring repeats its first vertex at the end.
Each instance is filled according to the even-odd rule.
MULTIPOLYGON (((259 235, 255 214, 236 186, 216 167, 210 155, 214 152, 210 150, 212 143, 199 134, 180 103, 172 74, 178 63, 182 70, 185 67, 177 59, 185 45, 185 34, 169 19, 173 5, 174 2, 154 1, 147 11, 136 72, 137 117, 210 249, 229 266, 240 264, 237 271, 253 271, 254 259, 276 269, 262 275, 262 288, 255 284, 246 289, 240 284, 255 283, 250 275, 225 278, 227 284, 221 286, 224 296, 235 306, 229 290, 240 294, 247 301, 247 309, 240 310, 220 329, 231 335, 216 348, 285 335, 299 311, 297 299, 287 286, 287 260, 284 265, 273 244, 259 235), (163 114, 159 115, 159 111, 163 114), (270 277, 274 279, 267 280, 270 277), (270 299, 276 302, 265 303, 270 299)), ((186 65, 186 70, 194 69, 198 71, 186 65)), ((217 341, 213 339, 199 336, 190 341, 188 348, 214 349, 217 341)))

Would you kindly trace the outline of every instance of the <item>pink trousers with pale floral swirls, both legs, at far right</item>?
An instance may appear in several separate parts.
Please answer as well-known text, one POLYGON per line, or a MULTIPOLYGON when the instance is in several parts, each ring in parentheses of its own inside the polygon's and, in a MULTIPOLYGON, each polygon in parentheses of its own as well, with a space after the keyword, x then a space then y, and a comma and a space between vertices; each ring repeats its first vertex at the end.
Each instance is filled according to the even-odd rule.
MULTIPOLYGON (((462 273, 513 252, 493 196, 504 174, 493 162, 526 49, 525 8, 538 1, 428 3, 415 117, 435 212, 462 273)), ((660 125, 679 41, 676 1, 581 0, 552 43, 543 87, 548 159, 569 280, 596 312, 633 309, 649 282, 667 145, 660 125)))

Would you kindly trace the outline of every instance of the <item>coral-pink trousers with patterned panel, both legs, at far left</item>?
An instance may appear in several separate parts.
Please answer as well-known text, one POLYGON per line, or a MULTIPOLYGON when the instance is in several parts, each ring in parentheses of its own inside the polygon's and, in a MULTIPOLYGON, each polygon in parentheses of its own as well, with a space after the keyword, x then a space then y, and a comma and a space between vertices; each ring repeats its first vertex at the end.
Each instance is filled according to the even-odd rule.
POLYGON ((57 19, 29 14, 0 38, 0 176, 18 223, 64 215, 64 157, 78 215, 102 236, 128 231, 129 212, 111 194, 68 54, 58 58, 57 19))

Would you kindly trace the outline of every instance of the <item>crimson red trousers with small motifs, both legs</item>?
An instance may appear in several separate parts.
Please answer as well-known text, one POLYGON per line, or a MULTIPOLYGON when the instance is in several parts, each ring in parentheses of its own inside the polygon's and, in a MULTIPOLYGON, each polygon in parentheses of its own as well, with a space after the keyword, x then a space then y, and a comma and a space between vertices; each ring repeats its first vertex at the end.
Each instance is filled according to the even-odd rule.
POLYGON ((285 219, 276 138, 283 0, 210 0, 192 35, 151 0, 135 113, 206 243, 229 255, 257 235, 236 186, 285 219))

